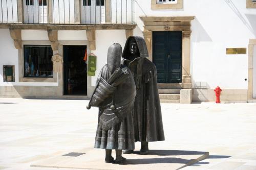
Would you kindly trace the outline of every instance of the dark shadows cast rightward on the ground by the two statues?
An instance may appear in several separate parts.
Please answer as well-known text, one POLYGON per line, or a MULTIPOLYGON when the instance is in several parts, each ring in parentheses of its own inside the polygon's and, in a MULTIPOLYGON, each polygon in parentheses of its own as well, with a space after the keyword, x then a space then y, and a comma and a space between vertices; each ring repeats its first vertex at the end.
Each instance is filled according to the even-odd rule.
MULTIPOLYGON (((139 151, 134 151, 133 154, 139 155, 139 151)), ((178 156, 178 155, 205 155, 208 152, 199 152, 199 151, 180 151, 180 150, 150 150, 147 155, 158 155, 158 156, 178 156)), ((206 159, 224 159, 229 158, 230 156, 225 155, 210 155, 206 159)), ((182 159, 175 157, 164 157, 164 158, 144 158, 144 159, 127 159, 122 164, 154 164, 154 163, 180 163, 188 164, 193 159, 182 159)), ((199 161, 196 163, 196 166, 200 164, 208 164, 209 162, 199 161)))

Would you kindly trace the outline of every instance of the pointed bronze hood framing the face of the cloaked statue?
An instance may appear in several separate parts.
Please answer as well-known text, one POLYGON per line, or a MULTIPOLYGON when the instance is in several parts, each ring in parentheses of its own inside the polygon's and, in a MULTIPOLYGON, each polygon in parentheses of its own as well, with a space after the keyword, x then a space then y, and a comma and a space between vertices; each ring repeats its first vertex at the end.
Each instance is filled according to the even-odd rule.
POLYGON ((139 37, 139 36, 130 36, 130 37, 127 38, 126 43, 124 45, 122 58, 126 59, 126 60, 130 60, 131 53, 130 53, 130 50, 129 50, 129 41, 132 38, 135 39, 135 41, 138 45, 138 51, 139 51, 140 57, 148 57, 145 40, 142 37, 139 37))

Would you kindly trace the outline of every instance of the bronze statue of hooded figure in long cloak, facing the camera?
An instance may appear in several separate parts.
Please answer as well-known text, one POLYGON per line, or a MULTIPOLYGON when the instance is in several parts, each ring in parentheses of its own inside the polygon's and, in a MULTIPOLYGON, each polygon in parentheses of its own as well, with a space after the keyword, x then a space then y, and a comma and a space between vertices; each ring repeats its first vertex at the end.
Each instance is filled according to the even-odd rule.
MULTIPOLYGON (((145 40, 130 36, 126 40, 121 63, 130 68, 136 84, 134 134, 135 141, 141 142, 141 155, 148 153, 148 142, 164 140, 157 71, 155 64, 147 57, 145 40)), ((123 154, 130 153, 133 150, 123 151, 123 154)))

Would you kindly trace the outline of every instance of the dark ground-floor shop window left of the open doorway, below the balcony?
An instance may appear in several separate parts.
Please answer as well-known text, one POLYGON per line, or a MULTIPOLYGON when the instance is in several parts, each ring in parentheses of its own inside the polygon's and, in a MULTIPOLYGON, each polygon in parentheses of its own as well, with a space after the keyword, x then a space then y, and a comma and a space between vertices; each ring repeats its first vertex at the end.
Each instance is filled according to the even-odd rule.
POLYGON ((24 77, 53 77, 51 45, 24 45, 24 77))

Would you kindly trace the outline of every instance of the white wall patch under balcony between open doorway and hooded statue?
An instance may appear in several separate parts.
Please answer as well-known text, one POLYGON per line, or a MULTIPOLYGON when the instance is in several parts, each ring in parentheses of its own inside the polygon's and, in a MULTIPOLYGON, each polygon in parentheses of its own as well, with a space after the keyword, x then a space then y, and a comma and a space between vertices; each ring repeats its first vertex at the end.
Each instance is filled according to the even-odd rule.
POLYGON ((92 51, 97 56, 97 70, 92 77, 92 86, 95 86, 101 68, 106 64, 108 48, 113 43, 118 42, 124 47, 126 41, 125 30, 97 30, 96 31, 96 50, 92 51))

